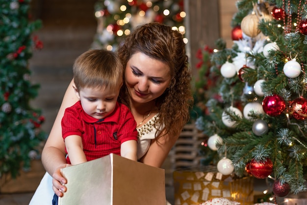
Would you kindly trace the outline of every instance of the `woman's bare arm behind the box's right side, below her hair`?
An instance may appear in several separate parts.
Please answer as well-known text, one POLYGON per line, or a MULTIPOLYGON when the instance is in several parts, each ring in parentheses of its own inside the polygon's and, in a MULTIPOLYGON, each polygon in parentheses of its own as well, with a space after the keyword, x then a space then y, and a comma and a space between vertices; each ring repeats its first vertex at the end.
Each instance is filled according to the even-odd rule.
POLYGON ((140 162, 160 168, 178 138, 179 135, 164 135, 157 140, 153 139, 147 153, 141 158, 140 162))

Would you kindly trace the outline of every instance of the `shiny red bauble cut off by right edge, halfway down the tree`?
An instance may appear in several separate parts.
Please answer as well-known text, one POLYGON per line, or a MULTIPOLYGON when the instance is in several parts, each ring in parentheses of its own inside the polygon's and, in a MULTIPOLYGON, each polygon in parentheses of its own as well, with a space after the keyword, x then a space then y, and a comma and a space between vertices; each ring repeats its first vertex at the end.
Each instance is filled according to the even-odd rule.
POLYGON ((304 120, 307 118, 307 99, 300 97, 292 101, 290 106, 290 114, 292 117, 304 120))

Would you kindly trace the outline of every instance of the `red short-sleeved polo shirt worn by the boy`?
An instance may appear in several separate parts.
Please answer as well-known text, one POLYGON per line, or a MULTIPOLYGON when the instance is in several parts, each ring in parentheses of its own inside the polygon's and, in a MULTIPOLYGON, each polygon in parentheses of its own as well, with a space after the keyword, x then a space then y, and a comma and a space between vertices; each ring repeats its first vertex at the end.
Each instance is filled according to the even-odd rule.
MULTIPOLYGON (((121 144, 128 140, 137 141, 136 122, 127 106, 116 103, 112 114, 102 120, 87 115, 80 101, 65 110, 62 118, 63 139, 70 135, 82 138, 87 161, 121 153, 121 144)), ((67 153, 67 150, 65 148, 67 153)), ((71 164, 69 156, 66 159, 71 164)))

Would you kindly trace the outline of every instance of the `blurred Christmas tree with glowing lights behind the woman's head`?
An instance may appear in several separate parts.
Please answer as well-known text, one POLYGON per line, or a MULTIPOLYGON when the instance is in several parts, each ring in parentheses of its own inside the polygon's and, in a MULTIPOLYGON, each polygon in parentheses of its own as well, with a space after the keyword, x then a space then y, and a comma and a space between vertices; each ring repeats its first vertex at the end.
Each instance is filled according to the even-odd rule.
POLYGON ((159 22, 185 33, 183 0, 98 0, 98 26, 92 48, 115 51, 122 37, 138 25, 159 22))

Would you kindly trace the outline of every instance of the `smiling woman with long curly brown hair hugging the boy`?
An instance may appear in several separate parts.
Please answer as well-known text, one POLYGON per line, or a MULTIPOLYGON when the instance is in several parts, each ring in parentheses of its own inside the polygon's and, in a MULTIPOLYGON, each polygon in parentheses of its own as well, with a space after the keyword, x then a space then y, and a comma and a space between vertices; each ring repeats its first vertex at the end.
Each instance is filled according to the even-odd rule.
MULTIPOLYGON (((159 23, 145 24, 126 37, 118 55, 125 69, 119 100, 129 107, 137 123, 138 160, 160 167, 188 121, 193 101, 182 35, 159 23)), ((77 102, 73 84, 64 95, 42 152, 43 165, 52 176, 52 189, 59 197, 67 182, 60 169, 69 166, 60 122, 65 108, 77 102)))

